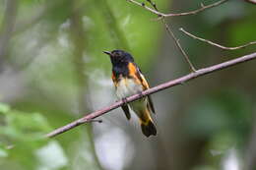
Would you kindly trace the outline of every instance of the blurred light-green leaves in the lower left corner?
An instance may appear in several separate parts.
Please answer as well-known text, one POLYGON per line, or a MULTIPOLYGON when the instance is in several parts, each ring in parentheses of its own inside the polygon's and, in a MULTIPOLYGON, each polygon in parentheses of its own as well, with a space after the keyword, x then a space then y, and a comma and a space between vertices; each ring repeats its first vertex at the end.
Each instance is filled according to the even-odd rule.
POLYGON ((4 103, 0 103, 0 116, 1 167, 12 169, 16 164, 19 169, 34 167, 33 154, 47 144, 43 136, 51 129, 46 119, 40 113, 18 111, 4 103))

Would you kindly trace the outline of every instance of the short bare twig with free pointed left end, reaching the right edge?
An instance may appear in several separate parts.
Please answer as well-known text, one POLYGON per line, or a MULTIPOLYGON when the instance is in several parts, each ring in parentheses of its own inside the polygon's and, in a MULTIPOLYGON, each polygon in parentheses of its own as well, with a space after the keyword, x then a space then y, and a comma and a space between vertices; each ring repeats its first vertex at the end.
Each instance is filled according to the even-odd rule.
POLYGON ((182 32, 184 32, 186 35, 188 35, 188 36, 190 36, 190 37, 192 37, 192 38, 194 38, 194 39, 198 39, 198 40, 204 41, 204 42, 206 42, 206 43, 209 43, 209 44, 211 44, 211 45, 217 46, 217 47, 222 48, 222 49, 224 49, 224 50, 241 49, 241 48, 245 48, 245 47, 247 47, 247 46, 249 46, 249 45, 254 45, 254 44, 256 44, 256 41, 252 41, 252 42, 246 43, 246 44, 244 44, 244 45, 240 45, 240 46, 226 47, 226 46, 220 45, 220 44, 218 44, 218 43, 215 43, 215 42, 213 42, 213 41, 211 41, 211 40, 204 39, 204 38, 202 38, 202 37, 198 37, 198 36, 196 36, 196 35, 193 35, 192 33, 189 33, 188 31, 184 30, 183 28, 179 28, 179 30, 182 31, 182 32))

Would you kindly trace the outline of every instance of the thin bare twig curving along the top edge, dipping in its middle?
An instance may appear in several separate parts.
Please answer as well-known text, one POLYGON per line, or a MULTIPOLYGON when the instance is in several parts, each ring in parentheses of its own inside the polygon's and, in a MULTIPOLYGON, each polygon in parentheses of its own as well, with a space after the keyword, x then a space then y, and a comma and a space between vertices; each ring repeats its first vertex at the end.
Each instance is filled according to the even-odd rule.
POLYGON ((213 7, 216 7, 216 6, 219 6, 219 5, 221 5, 221 4, 224 4, 224 2, 226 2, 226 1, 228 1, 228 0, 221 0, 221 1, 218 1, 218 2, 216 2, 216 3, 214 3, 214 4, 210 4, 210 5, 206 5, 206 6, 204 6, 203 4, 201 4, 201 8, 199 8, 199 9, 197 9, 197 10, 190 11, 190 12, 184 12, 184 13, 175 13, 175 14, 173 14, 173 13, 170 13, 170 14, 161 13, 161 12, 159 12, 158 10, 154 10, 154 9, 152 9, 152 8, 150 8, 150 7, 147 7, 147 6, 145 6, 145 5, 142 5, 141 3, 139 3, 139 2, 137 2, 137 1, 135 1, 135 0, 127 0, 127 1, 129 1, 129 2, 131 2, 131 3, 134 3, 134 4, 138 5, 138 6, 141 6, 141 7, 145 8, 146 10, 148 10, 148 11, 150 11, 150 12, 152 12, 152 13, 158 15, 160 18, 162 18, 162 17, 177 17, 177 16, 195 15, 195 14, 200 13, 200 12, 202 12, 202 11, 205 11, 205 10, 207 10, 207 9, 210 9, 210 8, 213 8, 213 7))

